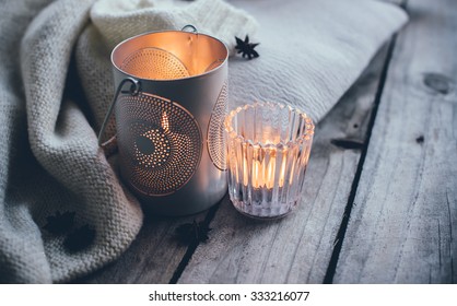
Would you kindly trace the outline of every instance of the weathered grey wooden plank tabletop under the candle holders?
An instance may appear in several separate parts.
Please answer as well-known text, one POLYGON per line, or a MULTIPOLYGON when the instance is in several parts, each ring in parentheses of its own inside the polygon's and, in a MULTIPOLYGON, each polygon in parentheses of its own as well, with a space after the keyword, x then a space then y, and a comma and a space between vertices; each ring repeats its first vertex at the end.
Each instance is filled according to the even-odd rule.
POLYGON ((227 197, 150 217, 86 283, 455 283, 457 2, 409 0, 410 23, 320 121, 298 209, 255 222, 227 197), (203 243, 176 228, 203 222, 203 243))

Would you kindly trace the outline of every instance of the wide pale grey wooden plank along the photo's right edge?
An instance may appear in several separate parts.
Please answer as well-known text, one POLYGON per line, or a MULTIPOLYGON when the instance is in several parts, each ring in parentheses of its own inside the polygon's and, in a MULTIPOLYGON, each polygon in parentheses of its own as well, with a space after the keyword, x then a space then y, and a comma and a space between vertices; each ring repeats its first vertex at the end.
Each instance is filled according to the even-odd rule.
POLYGON ((457 2, 409 0, 338 283, 457 280, 457 2))

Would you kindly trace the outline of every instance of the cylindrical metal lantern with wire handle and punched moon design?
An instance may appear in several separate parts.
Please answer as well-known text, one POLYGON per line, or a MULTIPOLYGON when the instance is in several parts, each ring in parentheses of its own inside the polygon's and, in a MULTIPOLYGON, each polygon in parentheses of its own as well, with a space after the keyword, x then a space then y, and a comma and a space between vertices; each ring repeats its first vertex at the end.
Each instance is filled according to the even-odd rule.
MULTIPOLYGON (((192 30, 195 27, 190 26, 192 30)), ((184 215, 226 192, 226 46, 184 31, 142 34, 112 52, 120 174, 145 210, 184 215)))

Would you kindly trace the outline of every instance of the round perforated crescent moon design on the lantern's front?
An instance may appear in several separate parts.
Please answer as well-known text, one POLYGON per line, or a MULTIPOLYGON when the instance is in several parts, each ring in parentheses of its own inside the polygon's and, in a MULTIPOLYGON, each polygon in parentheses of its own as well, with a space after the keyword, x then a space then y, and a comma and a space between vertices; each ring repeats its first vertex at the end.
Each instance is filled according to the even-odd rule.
POLYGON ((117 130, 128 181, 148 196, 175 192, 189 181, 201 160, 196 119, 180 105, 151 94, 122 95, 117 130))

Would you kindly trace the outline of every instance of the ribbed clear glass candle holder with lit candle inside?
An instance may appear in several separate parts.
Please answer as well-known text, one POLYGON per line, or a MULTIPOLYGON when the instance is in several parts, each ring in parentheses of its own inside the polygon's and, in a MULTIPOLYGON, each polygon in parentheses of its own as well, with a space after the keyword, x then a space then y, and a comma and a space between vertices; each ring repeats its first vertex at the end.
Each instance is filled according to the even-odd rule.
POLYGON ((314 136, 313 120, 283 104, 232 110, 227 134, 228 195, 241 213, 277 219, 297 205, 314 136))

